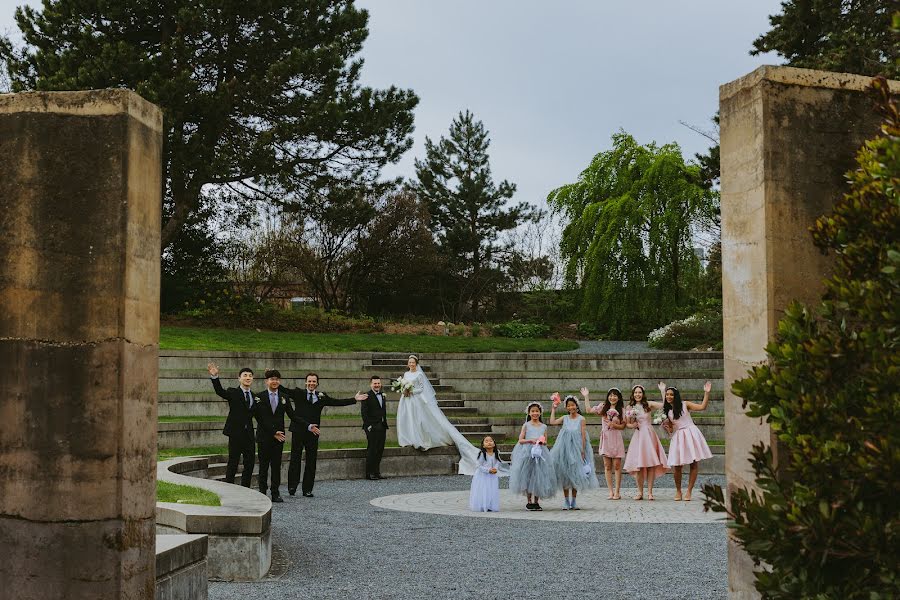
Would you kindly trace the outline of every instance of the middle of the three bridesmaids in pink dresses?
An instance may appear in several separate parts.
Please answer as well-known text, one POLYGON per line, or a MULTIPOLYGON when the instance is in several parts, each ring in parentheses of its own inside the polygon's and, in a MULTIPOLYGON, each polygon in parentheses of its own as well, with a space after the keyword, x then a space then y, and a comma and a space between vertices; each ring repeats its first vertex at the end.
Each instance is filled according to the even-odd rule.
POLYGON ((653 500, 653 482, 669 470, 666 451, 653 429, 652 412, 662 408, 662 402, 650 402, 644 394, 644 386, 631 388, 629 407, 637 412, 635 420, 626 423, 634 430, 625 455, 625 471, 637 479, 638 493, 635 500, 644 499, 644 480, 647 481, 647 499, 653 500))

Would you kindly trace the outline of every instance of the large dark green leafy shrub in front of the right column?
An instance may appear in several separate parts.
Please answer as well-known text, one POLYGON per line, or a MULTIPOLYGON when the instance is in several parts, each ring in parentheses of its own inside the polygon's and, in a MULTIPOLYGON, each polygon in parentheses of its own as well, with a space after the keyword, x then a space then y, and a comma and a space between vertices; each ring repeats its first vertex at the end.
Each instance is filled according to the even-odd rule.
POLYGON ((759 492, 704 486, 757 565, 763 598, 900 597, 900 114, 876 80, 884 135, 812 228, 834 252, 816 310, 792 304, 768 364, 734 384, 778 440, 750 463, 759 492))

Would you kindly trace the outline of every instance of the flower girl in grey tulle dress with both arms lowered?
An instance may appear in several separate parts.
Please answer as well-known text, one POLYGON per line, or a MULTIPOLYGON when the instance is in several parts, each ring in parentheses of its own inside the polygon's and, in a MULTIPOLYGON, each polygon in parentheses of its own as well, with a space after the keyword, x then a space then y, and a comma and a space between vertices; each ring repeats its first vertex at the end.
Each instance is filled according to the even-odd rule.
POLYGON ((528 498, 527 510, 543 510, 541 498, 556 494, 556 473, 547 449, 547 426, 541 418, 544 408, 532 402, 525 409, 528 420, 519 432, 519 443, 513 448, 509 489, 528 498))

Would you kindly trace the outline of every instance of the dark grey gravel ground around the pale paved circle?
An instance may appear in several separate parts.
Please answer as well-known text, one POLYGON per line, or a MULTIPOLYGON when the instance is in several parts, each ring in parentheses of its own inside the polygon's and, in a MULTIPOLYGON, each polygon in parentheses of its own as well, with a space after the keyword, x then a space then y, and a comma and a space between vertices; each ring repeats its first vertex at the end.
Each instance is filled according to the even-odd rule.
MULTIPOLYGON (((685 483, 687 477, 685 476, 685 483)), ((694 501, 702 501, 700 476, 694 501)), ((466 519, 378 509, 389 494, 459 490, 466 477, 325 481, 285 495, 277 579, 210 583, 210 600, 265 598, 725 598, 725 525, 615 525, 466 519), (640 573, 635 576, 634 573, 640 573)), ((630 478, 623 487, 631 487, 630 478)), ((671 476, 659 487, 671 487, 671 476)), ((599 492, 594 492, 599 493, 599 492)), ((548 500, 556 502, 558 499, 548 500)))

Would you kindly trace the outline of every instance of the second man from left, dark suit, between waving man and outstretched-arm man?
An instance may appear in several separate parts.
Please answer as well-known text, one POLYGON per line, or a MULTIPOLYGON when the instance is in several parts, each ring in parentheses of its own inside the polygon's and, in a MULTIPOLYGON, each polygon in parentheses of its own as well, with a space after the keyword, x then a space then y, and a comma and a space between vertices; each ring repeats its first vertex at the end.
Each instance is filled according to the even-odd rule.
POLYGON ((259 393, 253 404, 256 419, 256 445, 259 452, 259 491, 266 493, 269 483, 269 469, 272 470, 272 502, 281 499, 281 453, 284 452, 284 415, 294 418, 294 407, 287 394, 282 393, 281 373, 271 369, 266 371, 266 389, 259 393))

